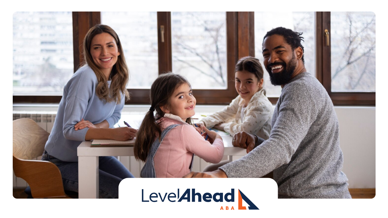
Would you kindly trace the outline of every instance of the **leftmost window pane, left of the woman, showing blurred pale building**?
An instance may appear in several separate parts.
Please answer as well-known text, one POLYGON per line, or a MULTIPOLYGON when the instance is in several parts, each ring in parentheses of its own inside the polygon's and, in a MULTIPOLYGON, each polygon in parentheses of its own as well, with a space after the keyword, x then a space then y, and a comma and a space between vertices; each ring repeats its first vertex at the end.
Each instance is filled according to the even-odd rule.
POLYGON ((71 12, 13 14, 14 95, 62 95, 73 75, 71 12))

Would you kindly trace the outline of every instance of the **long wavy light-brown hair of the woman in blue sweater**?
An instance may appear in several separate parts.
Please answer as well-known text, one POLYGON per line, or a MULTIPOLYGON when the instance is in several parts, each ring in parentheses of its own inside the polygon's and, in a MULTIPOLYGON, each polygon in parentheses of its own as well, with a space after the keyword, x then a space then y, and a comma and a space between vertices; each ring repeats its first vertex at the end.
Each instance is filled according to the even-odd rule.
POLYGON ((105 100, 106 102, 116 101, 117 104, 120 104, 121 93, 123 93, 127 100, 129 100, 129 93, 126 90, 126 84, 128 83, 129 79, 129 71, 128 67, 126 66, 123 47, 121 47, 120 39, 112 28, 103 24, 97 24, 90 28, 85 38, 83 39, 82 55, 84 58, 83 66, 88 65, 90 68, 92 68, 97 76, 98 84, 96 87, 96 94, 100 99, 105 100), (90 54, 90 44, 92 43, 93 37, 101 33, 109 33, 116 41, 118 52, 120 52, 120 55, 117 56, 117 62, 114 64, 111 71, 112 81, 110 88, 108 88, 106 77, 99 69, 99 67, 97 67, 97 65, 94 63, 92 55, 90 54))

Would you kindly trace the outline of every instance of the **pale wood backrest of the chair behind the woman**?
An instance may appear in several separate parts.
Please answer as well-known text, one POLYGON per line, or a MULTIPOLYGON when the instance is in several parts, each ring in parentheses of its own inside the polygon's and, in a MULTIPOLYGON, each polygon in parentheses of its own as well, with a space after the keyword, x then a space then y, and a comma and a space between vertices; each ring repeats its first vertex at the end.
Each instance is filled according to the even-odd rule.
POLYGON ((12 129, 13 154, 15 157, 31 160, 42 156, 50 133, 28 118, 14 120, 12 129))

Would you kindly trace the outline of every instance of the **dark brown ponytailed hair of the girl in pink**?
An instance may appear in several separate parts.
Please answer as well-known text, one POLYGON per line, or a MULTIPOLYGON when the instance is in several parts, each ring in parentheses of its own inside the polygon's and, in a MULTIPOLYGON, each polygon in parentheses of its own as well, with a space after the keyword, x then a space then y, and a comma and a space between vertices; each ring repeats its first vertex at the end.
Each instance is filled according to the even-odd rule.
MULTIPOLYGON (((185 83, 191 87, 189 81, 187 81, 184 76, 173 74, 171 72, 160 74, 154 83, 152 83, 149 93, 151 108, 145 114, 139 131, 137 131, 136 142, 133 147, 135 158, 137 160, 140 159, 145 161, 145 159, 147 159, 149 149, 155 139, 159 138, 160 142, 162 123, 157 123, 156 121, 165 116, 165 113, 160 109, 160 107, 170 107, 170 97, 177 88, 185 83), (156 116, 154 116, 154 110, 156 111, 156 116)), ((186 123, 191 124, 191 118, 187 118, 186 123)))

